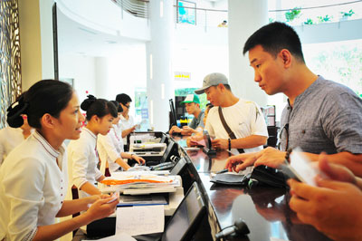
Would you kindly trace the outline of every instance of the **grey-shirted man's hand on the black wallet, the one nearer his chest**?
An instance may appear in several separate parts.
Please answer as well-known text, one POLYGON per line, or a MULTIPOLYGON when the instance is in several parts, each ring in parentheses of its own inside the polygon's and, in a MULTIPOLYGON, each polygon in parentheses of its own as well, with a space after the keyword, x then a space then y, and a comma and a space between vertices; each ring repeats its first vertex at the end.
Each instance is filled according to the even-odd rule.
POLYGON ((281 164, 284 163, 285 159, 285 151, 281 151, 279 149, 268 147, 266 149, 262 149, 256 155, 256 160, 254 166, 265 165, 271 168, 278 168, 281 164))

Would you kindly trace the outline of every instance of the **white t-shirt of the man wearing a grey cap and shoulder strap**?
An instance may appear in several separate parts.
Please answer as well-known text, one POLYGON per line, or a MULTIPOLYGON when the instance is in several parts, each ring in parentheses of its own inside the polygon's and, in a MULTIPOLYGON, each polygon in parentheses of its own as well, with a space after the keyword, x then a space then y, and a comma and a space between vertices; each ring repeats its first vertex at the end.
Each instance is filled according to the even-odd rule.
MULTIPOLYGON (((205 130, 210 137, 215 139, 229 139, 229 135, 224 129, 223 122, 220 120, 219 107, 212 108, 206 119, 205 130)), ((237 139, 252 135, 268 137, 268 130, 265 124, 262 111, 253 101, 240 99, 234 105, 222 108, 224 119, 237 139)), ((235 151, 236 149, 233 149, 235 151)), ((262 146, 244 149, 245 152, 262 150, 262 146)))

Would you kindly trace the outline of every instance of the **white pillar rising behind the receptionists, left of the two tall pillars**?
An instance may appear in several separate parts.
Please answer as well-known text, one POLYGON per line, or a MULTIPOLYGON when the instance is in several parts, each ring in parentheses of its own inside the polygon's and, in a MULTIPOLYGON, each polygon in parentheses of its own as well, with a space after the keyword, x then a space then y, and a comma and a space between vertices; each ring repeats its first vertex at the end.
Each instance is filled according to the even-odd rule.
POLYGON ((151 128, 168 129, 168 100, 175 98, 172 74, 174 1, 149 1, 151 41, 146 43, 148 118, 151 128))

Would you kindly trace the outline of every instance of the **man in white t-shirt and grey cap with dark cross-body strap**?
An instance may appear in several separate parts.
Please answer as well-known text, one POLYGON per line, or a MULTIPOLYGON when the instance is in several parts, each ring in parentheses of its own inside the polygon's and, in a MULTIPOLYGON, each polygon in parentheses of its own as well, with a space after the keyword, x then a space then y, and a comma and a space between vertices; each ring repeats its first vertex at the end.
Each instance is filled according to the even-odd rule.
POLYGON ((212 145, 215 149, 243 149, 245 152, 262 149, 268 140, 268 130, 262 111, 255 102, 234 96, 226 76, 220 72, 206 75, 203 87, 195 91, 197 94, 203 92, 214 105, 208 113, 205 130, 214 138, 212 145), (236 139, 225 130, 219 108, 236 139))

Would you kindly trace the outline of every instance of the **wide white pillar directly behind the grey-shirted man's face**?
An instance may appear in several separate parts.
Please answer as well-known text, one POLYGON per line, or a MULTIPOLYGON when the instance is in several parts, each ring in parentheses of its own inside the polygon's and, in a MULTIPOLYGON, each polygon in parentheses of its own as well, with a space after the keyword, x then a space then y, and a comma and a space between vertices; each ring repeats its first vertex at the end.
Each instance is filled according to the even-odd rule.
POLYGON ((267 103, 267 95, 254 82, 248 54, 243 56, 243 44, 262 25, 268 24, 267 0, 229 0, 229 82, 233 93, 260 106, 267 103))

